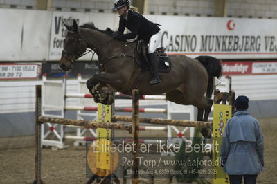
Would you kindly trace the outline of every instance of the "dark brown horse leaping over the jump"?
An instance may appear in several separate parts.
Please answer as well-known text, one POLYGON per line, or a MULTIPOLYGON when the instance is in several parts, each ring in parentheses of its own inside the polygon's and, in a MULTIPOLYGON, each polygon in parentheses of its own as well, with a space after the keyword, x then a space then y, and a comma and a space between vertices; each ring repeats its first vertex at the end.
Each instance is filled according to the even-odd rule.
MULTIPOLYGON (((60 68, 69 71, 73 62, 90 48, 98 55, 100 73, 87 80, 87 88, 96 102, 109 104, 112 95, 107 89, 129 93, 141 70, 134 59, 136 42, 114 39, 114 34, 100 30, 94 24, 78 26, 64 24, 67 35, 60 59, 60 68)), ((177 104, 197 107, 197 121, 208 121, 213 100, 213 77, 220 77, 220 61, 211 56, 195 59, 186 55, 170 55, 172 66, 168 73, 159 73, 161 83, 150 85, 151 73, 143 73, 139 82, 141 95, 166 93, 166 99, 177 104), (203 116, 204 114, 204 116, 203 116)), ((211 138, 211 130, 202 129, 205 138, 211 138)))

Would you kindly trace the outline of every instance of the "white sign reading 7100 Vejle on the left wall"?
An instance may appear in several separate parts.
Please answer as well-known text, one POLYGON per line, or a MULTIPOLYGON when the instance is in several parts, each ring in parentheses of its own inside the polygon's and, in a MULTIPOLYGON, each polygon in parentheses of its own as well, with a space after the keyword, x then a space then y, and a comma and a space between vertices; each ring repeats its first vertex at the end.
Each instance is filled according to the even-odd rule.
POLYGON ((39 64, 0 64, 0 80, 37 78, 40 68, 39 64))

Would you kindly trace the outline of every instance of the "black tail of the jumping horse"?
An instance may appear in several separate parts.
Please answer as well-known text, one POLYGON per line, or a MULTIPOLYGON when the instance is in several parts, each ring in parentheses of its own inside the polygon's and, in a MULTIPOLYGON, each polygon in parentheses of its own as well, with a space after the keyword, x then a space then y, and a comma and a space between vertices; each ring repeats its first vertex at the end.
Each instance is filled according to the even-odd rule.
POLYGON ((208 87, 206 91, 206 98, 211 98, 213 93, 213 77, 220 78, 222 74, 222 65, 220 64, 220 60, 208 55, 201 55, 195 59, 201 62, 208 72, 208 87))

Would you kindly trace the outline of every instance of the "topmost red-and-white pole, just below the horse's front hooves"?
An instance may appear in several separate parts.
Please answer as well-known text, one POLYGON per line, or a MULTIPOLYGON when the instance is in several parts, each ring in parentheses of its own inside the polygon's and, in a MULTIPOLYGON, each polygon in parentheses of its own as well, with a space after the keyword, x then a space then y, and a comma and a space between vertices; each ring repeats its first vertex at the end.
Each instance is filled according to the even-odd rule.
MULTIPOLYGON (((64 107, 67 111, 98 111, 98 107, 85 107, 85 106, 74 106, 74 105, 67 105, 64 107)), ((132 113, 132 108, 129 107, 115 107, 114 111, 116 112, 129 112, 132 113)), ((163 108, 139 108, 140 113, 166 113, 167 109, 163 108)))

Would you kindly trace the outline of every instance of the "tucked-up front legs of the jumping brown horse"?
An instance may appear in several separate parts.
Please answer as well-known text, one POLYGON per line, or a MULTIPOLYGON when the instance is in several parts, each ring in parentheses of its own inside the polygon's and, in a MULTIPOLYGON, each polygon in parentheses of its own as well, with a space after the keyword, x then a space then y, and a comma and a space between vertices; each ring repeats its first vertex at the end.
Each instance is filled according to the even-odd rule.
POLYGON ((87 80, 87 88, 91 95, 93 95, 96 103, 113 104, 114 92, 109 90, 107 84, 120 83, 119 76, 113 73, 101 73, 94 75, 91 79, 87 80))

